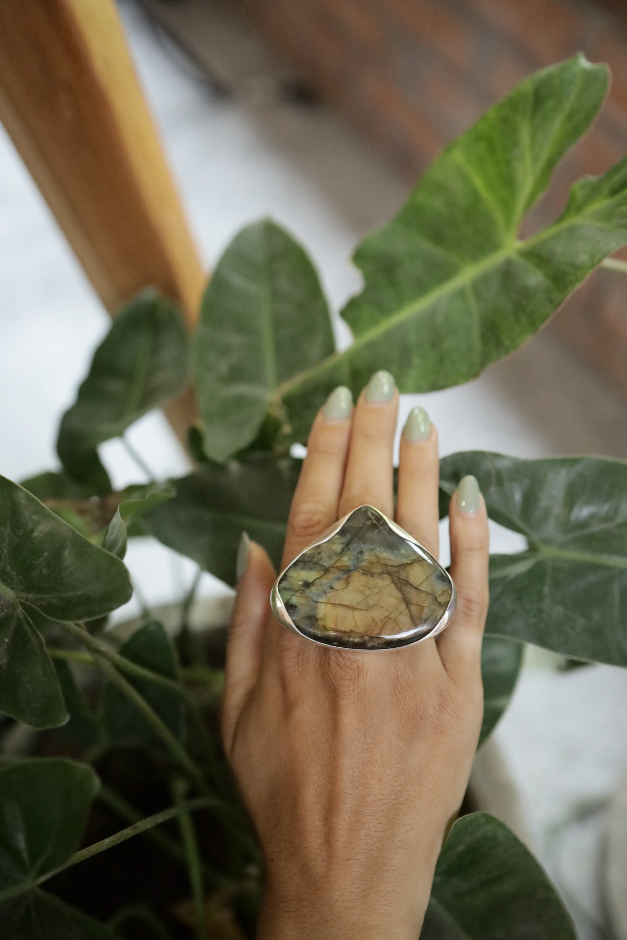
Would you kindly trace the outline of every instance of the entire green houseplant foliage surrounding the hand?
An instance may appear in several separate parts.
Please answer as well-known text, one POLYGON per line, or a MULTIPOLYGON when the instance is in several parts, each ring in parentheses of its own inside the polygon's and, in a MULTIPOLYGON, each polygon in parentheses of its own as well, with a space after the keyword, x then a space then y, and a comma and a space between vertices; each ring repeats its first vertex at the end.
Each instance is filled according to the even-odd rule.
MULTIPOLYGON (((444 151, 355 252, 364 289, 341 312, 349 349, 336 351, 304 249, 259 222, 220 260, 194 337, 154 292, 119 313, 61 422, 60 470, 0 478, 3 937, 254 935, 262 860, 217 732, 224 635, 192 642, 190 595, 174 637, 146 611, 112 642, 106 618, 132 593, 127 538, 150 534, 229 585, 243 530, 277 564, 300 468, 290 445, 306 441, 333 387, 356 395, 378 368, 402 392, 459 384, 538 330, 627 243, 627 160, 576 182, 555 223, 518 237, 607 84, 604 66, 577 55, 444 151), (196 469, 114 492, 97 447, 190 376, 196 469)), ((490 516, 527 540, 492 558, 483 741, 525 641, 627 666, 627 605, 600 603, 627 590, 627 464, 454 454, 442 462, 443 515, 466 473, 490 516)), ((421 935, 574 940, 537 862, 480 813, 447 838, 421 935)))

